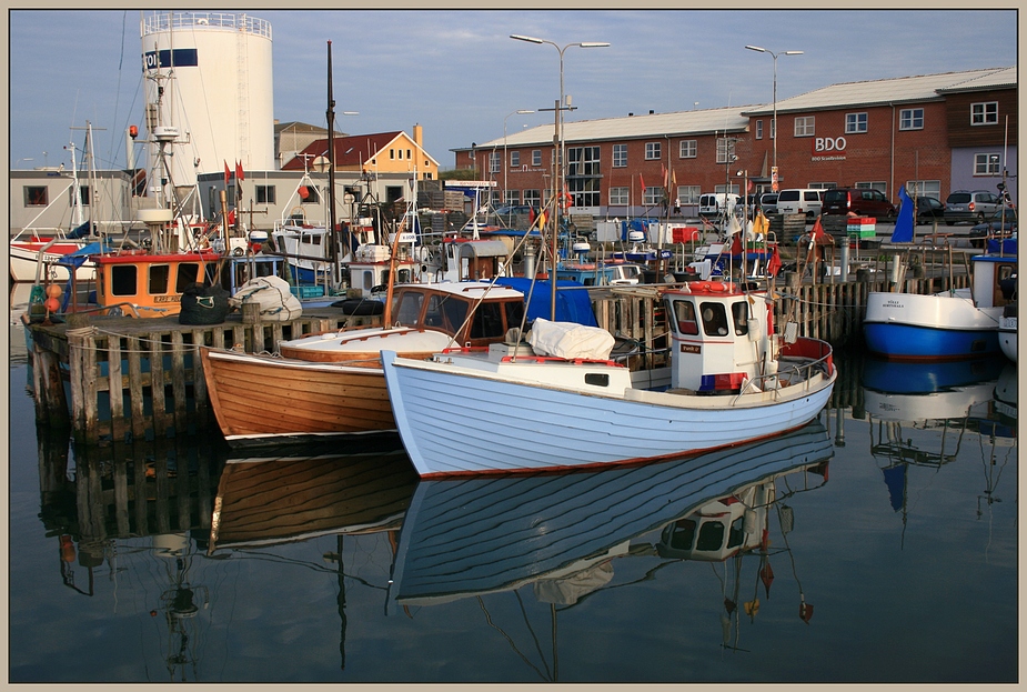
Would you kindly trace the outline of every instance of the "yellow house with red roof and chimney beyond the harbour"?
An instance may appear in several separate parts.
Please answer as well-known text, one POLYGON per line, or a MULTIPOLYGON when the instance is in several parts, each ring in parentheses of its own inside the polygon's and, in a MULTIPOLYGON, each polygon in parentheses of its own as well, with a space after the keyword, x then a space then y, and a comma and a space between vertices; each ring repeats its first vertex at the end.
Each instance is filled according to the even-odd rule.
MULTIPOLYGON (((380 132, 377 134, 351 134, 338 137, 335 143, 335 171, 354 173, 414 173, 417 180, 437 180, 439 162, 422 146, 420 124, 414 126, 414 136, 406 132, 380 132)), ((318 157, 328 152, 328 138, 319 139, 282 166, 285 171, 302 171, 312 168, 318 157), (310 162, 310 163, 306 163, 310 162)))

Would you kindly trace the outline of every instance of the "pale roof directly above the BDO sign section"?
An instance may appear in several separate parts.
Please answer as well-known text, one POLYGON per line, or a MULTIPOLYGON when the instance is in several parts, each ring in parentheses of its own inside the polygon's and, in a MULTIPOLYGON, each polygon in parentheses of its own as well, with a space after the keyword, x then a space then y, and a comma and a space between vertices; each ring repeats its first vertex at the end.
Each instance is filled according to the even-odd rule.
MULTIPOLYGON (((977 84, 977 89, 1016 88, 1016 68, 989 68, 832 84, 778 101, 777 112, 940 101, 949 91, 967 90, 967 84, 977 84)), ((766 116, 772 112, 773 106, 767 103, 746 110, 743 114, 766 116)))

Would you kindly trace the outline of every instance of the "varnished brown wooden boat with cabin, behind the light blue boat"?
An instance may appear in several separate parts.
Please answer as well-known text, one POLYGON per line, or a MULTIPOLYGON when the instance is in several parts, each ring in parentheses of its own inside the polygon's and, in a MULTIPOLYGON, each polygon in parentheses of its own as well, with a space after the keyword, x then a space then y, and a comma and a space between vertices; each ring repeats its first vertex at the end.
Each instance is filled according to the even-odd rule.
POLYGON ((394 432, 382 349, 427 358, 456 343, 484 345, 518 328, 524 314, 520 291, 482 282, 400 285, 394 304, 384 327, 280 341, 274 355, 201 349, 211 409, 229 444, 394 432))

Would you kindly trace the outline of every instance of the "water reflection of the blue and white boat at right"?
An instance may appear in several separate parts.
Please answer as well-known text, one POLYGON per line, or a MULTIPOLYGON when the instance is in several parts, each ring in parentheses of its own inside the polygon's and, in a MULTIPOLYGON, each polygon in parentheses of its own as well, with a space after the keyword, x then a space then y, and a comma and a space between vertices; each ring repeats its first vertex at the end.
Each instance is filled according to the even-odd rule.
POLYGON ((995 354, 936 363, 867 359, 863 384, 870 454, 884 475, 892 509, 902 512, 904 526, 910 470, 937 470, 955 461, 967 444, 980 448, 986 479, 986 488, 977 495, 978 518, 985 508, 1001 501, 995 495, 996 487, 1005 465, 1016 460, 1014 365, 995 354))

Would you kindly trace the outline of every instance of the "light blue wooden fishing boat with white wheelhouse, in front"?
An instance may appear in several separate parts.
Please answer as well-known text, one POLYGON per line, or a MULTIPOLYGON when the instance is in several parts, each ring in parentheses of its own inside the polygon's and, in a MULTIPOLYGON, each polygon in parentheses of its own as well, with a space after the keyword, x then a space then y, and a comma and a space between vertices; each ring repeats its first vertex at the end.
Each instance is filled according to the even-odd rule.
POLYGON ((535 320, 526 343, 383 351, 400 435, 422 478, 652 461, 769 438, 812 420, 837 378, 830 345, 771 329, 765 291, 663 291, 669 384, 610 359, 602 329, 535 320), (494 412, 495 414, 484 414, 494 412))

